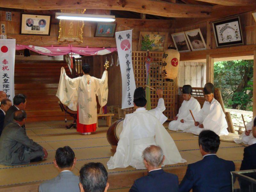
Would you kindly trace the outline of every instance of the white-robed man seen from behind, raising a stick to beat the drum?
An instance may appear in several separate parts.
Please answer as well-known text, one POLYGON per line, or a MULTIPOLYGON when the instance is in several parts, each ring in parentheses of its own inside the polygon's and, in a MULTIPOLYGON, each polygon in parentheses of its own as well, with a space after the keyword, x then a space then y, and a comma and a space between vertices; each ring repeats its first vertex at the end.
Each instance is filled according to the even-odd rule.
POLYGON ((134 91, 135 112, 126 114, 123 131, 120 134, 116 153, 111 156, 107 165, 108 169, 117 167, 128 167, 131 165, 136 169, 146 169, 143 163, 142 152, 150 145, 158 145, 164 151, 164 165, 185 163, 182 159, 170 134, 166 131, 163 123, 167 120, 163 111, 165 110, 163 91, 157 90, 158 104, 155 109, 146 110, 146 93, 142 87, 134 91))

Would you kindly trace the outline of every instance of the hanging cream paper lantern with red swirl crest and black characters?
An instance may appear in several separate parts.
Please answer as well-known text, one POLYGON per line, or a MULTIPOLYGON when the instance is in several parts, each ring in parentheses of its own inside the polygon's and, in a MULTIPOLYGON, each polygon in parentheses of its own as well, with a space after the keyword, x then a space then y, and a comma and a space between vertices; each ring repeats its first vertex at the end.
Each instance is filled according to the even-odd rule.
POLYGON ((163 54, 162 76, 166 79, 175 79, 178 75, 180 53, 176 47, 168 47, 163 54))

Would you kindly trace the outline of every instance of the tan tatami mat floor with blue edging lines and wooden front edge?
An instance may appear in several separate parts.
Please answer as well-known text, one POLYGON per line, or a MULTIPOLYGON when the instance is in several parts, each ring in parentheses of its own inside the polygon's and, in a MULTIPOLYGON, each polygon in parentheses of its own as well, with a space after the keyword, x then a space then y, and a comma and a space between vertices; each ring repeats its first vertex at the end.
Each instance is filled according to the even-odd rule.
MULTIPOLYGON (((100 120, 99 125, 105 125, 106 121, 100 120)), ((48 151, 48 158, 42 162, 28 165, 4 166, 0 165, 0 191, 31 191, 36 192, 39 183, 58 175, 52 161, 55 150, 59 147, 70 146, 73 148, 77 161, 74 174, 78 175, 80 168, 88 162, 101 162, 107 168, 107 161, 112 153, 111 146, 106 139, 107 127, 100 127, 94 134, 81 135, 76 129, 64 128, 64 121, 33 122, 26 124, 28 136, 38 142, 48 151)), ((165 124, 167 127, 168 124, 165 124)), ((168 129, 167 129, 168 130, 168 129)), ((175 141, 182 158, 186 164, 167 165, 164 170, 178 175, 182 180, 186 172, 187 164, 202 159, 198 149, 198 137, 185 132, 168 132, 175 141)), ((244 146, 232 142, 221 142, 217 155, 226 160, 232 160, 236 164, 236 170, 240 168, 243 158, 244 146)), ((129 191, 133 181, 145 174, 146 170, 136 170, 131 166, 108 170, 109 191, 129 191)))

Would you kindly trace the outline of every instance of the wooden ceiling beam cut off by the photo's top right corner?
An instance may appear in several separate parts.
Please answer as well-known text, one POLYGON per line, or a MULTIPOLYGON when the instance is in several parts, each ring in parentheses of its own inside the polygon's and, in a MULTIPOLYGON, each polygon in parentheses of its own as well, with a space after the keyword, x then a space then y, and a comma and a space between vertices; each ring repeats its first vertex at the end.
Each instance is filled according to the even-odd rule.
POLYGON ((219 5, 226 5, 226 6, 249 6, 249 5, 256 5, 255 0, 196 0, 202 1, 207 3, 214 3, 219 5))

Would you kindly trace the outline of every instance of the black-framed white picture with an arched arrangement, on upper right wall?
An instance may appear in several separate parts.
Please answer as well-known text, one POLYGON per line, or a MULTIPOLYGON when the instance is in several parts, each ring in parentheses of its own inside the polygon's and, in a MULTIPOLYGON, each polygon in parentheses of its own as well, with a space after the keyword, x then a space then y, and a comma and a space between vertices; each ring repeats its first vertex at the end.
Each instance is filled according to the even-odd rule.
POLYGON ((214 21, 212 27, 217 47, 244 44, 239 17, 214 21))

